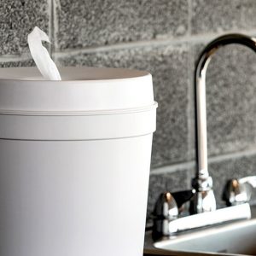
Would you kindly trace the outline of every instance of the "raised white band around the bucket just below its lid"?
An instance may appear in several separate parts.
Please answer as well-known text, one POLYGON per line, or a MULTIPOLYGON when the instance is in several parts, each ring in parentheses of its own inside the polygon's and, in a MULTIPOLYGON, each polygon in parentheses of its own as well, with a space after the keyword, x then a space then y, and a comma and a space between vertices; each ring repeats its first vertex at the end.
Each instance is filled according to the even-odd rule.
POLYGON ((142 136, 155 131, 156 104, 134 113, 88 115, 0 114, 0 138, 91 140, 142 136))

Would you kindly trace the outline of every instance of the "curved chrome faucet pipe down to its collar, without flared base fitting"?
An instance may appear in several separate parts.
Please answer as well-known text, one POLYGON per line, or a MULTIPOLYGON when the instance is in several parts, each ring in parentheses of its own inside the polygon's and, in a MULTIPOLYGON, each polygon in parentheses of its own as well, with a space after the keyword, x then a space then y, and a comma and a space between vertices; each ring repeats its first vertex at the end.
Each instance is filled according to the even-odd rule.
MULTIPOLYGON (((207 44, 197 61, 195 68, 195 142, 197 171, 194 186, 197 187, 195 189, 201 191, 205 189, 205 186, 201 186, 201 183, 205 183, 209 177, 207 164, 207 67, 212 59, 212 55, 219 48, 227 44, 242 44, 256 52, 256 38, 250 38, 242 34, 227 34, 207 44)), ((210 185, 210 183, 208 184, 210 185)))

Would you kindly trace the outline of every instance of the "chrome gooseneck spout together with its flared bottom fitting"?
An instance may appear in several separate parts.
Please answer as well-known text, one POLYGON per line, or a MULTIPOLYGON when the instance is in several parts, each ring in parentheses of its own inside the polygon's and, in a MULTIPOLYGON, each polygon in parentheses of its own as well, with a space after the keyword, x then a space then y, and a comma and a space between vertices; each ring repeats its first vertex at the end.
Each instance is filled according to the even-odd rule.
POLYGON ((226 44, 242 44, 256 52, 256 38, 242 34, 227 34, 216 38, 202 51, 195 68, 195 125, 197 171, 192 185, 196 190, 191 213, 210 212, 216 209, 212 191, 212 177, 207 165, 207 104, 206 73, 212 55, 226 44))

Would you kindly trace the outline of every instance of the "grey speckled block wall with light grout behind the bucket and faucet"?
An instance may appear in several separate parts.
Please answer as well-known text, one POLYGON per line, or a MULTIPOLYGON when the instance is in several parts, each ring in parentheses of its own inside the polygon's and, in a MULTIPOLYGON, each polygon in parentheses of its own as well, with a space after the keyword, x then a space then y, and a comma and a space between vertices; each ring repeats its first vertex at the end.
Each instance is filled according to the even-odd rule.
MULTIPOLYGON (((32 66, 26 35, 48 32, 58 65, 131 67, 153 74, 159 102, 148 212, 160 192, 195 173, 194 69, 224 32, 256 35, 254 0, 2 0, 0 67, 32 66)), ((221 204, 230 177, 256 175, 256 55, 230 45, 207 72, 209 170, 221 204)))

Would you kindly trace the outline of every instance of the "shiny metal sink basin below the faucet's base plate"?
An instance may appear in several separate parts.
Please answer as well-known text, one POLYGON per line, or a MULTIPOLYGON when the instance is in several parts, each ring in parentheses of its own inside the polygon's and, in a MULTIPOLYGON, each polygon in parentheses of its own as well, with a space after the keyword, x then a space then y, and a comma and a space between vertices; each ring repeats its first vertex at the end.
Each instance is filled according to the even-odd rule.
POLYGON ((256 218, 163 238, 153 242, 153 246, 169 251, 170 255, 256 255, 256 218))

